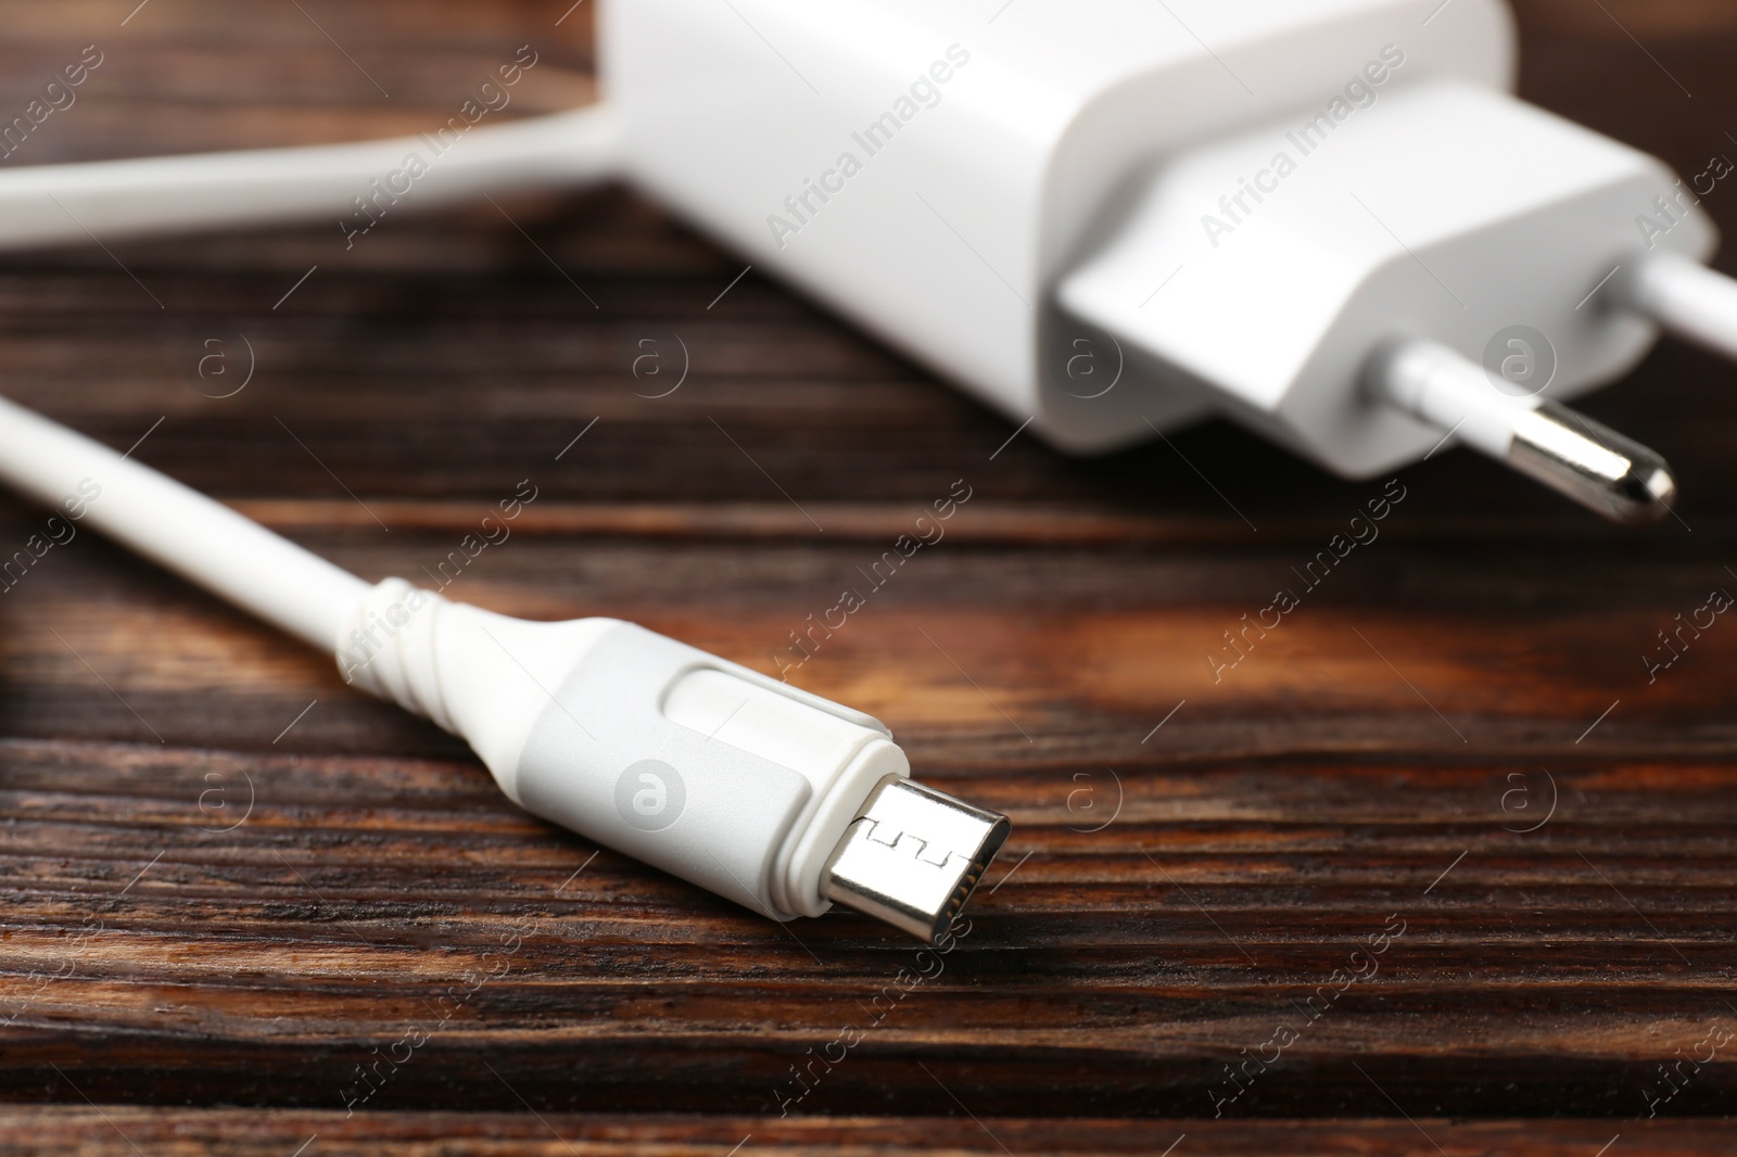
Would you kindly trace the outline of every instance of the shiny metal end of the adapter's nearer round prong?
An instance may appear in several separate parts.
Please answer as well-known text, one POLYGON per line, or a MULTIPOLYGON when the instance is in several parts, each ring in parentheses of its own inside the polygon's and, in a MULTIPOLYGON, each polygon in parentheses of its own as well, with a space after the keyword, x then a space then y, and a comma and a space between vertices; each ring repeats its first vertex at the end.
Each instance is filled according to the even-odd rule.
POLYGON ((1520 417, 1513 434, 1509 466, 1605 518, 1641 525, 1671 512, 1671 467, 1608 426, 1546 401, 1520 417))

